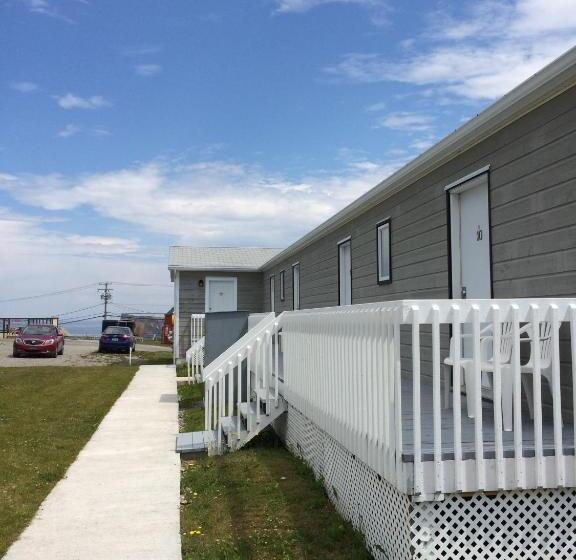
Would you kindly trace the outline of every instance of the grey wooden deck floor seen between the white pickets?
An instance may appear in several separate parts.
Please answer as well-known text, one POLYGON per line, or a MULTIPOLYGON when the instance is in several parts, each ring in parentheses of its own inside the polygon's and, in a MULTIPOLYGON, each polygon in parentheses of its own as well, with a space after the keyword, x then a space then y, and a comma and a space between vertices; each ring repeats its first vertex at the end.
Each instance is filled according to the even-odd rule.
MULTIPOLYGON (((544 389, 547 390, 547 389, 544 389)), ((452 397, 452 395, 451 395, 452 397)), ((413 415, 412 415, 412 382, 409 376, 402 377, 402 433, 404 462, 414 460, 413 448, 413 415)), ((574 455, 574 423, 572 415, 563 411, 564 426, 562 429, 564 455, 574 455)), ((422 417, 422 461, 434 460, 434 436, 432 415, 432 380, 422 377, 421 383, 421 417, 422 417)), ((462 396, 462 458, 476 457, 474 443, 474 419, 468 418, 466 397, 462 396)), ((454 430, 452 408, 442 410, 442 458, 454 459, 454 430)), ((494 408, 488 399, 482 401, 482 430, 484 436, 484 458, 494 459, 494 408)), ((514 457, 514 432, 502 432, 504 457, 514 457)), ((542 418, 542 440, 544 456, 554 455, 554 424, 552 409, 545 407, 542 418)), ((522 407, 522 449, 524 457, 534 457, 534 422, 528 414, 528 407, 522 407)))

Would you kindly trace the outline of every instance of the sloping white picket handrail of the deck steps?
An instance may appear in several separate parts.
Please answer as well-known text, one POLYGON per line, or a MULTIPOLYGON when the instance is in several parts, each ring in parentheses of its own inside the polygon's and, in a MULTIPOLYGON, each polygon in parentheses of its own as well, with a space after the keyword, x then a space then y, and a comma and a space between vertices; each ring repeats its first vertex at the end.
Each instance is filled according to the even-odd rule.
POLYGON ((223 354, 204 368, 205 429, 217 430, 217 447, 222 446, 221 422, 236 417, 235 433, 242 432, 240 407, 247 407, 248 432, 258 428, 279 398, 279 322, 270 313, 223 354), (246 375, 244 375, 246 373, 246 375), (246 386, 243 387, 243 380, 246 386), (254 394, 254 406, 251 395, 254 394))

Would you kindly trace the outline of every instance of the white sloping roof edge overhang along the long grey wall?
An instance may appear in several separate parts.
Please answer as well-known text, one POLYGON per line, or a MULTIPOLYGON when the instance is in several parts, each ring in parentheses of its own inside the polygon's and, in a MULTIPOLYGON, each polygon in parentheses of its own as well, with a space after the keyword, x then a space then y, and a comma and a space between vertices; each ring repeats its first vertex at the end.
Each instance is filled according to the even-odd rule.
POLYGON ((576 47, 564 53, 476 117, 269 259, 260 267, 260 270, 274 266, 301 251, 353 220, 368 208, 410 186, 574 85, 576 85, 576 47))

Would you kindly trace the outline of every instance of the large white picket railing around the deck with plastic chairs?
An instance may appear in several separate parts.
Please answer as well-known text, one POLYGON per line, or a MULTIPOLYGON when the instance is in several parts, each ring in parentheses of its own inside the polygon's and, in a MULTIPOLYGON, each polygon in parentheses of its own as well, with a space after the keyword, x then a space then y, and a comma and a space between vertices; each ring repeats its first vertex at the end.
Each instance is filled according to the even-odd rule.
POLYGON ((286 400, 401 491, 576 485, 576 300, 405 300, 280 322, 286 400))

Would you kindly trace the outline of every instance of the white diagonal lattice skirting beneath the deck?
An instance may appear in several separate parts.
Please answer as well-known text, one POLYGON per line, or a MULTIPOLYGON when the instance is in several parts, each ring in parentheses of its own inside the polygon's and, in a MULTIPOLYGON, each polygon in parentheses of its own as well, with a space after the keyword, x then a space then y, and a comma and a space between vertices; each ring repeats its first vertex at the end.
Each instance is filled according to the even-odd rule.
POLYGON ((412 503, 294 407, 275 424, 287 447, 381 560, 574 560, 576 489, 451 494, 412 503))

